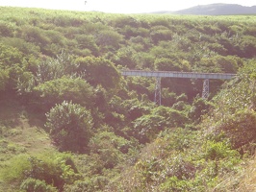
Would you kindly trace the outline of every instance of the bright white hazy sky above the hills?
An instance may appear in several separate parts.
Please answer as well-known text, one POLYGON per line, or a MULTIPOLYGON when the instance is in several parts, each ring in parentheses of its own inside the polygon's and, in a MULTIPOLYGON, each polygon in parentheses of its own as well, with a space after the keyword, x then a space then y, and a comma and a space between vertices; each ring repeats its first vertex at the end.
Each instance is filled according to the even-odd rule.
POLYGON ((254 6, 256 0, 0 0, 0 6, 121 13, 177 11, 212 3, 254 6))

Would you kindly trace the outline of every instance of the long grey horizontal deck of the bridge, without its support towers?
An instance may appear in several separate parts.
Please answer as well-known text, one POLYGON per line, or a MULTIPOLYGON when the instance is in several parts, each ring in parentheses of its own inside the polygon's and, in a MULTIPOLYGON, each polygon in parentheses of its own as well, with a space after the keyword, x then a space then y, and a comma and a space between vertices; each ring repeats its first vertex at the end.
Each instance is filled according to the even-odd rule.
POLYGON ((159 77, 159 78, 188 78, 188 79, 214 79, 230 80, 236 76, 232 73, 195 73, 195 72, 177 72, 177 71, 141 71, 141 70, 123 70, 122 76, 141 76, 141 77, 159 77))

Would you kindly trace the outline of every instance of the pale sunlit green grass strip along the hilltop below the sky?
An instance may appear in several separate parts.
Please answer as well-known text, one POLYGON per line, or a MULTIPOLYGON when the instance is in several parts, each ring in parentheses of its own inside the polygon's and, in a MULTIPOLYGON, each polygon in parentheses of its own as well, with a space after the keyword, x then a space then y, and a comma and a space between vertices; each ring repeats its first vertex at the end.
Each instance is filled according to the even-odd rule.
MULTIPOLYGON (((10 20, 15 18, 19 22, 26 22, 31 20, 32 17, 47 20, 51 17, 62 17, 66 20, 69 19, 78 19, 78 20, 105 20, 109 21, 110 19, 115 19, 118 17, 128 17, 132 16, 138 20, 150 21, 151 19, 164 18, 166 20, 175 19, 180 21, 192 20, 200 21, 202 23, 211 23, 211 22, 242 22, 242 23, 255 23, 256 15, 179 15, 179 14, 161 14, 161 13, 137 13, 137 14, 122 14, 122 13, 105 13, 105 12, 77 12, 77 11, 55 11, 55 10, 45 10, 45 9, 35 9, 35 8, 12 8, 12 7, 0 7, 0 15, 2 20, 10 20)), ((13 20, 15 22, 15 20, 13 20)))

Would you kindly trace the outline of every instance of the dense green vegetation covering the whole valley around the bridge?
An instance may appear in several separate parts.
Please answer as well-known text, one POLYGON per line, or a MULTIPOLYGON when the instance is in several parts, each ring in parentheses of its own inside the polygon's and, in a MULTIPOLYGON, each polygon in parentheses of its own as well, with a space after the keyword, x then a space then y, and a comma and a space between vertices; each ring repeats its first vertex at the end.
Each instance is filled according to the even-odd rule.
POLYGON ((0 191, 255 190, 256 16, 0 15, 0 191))

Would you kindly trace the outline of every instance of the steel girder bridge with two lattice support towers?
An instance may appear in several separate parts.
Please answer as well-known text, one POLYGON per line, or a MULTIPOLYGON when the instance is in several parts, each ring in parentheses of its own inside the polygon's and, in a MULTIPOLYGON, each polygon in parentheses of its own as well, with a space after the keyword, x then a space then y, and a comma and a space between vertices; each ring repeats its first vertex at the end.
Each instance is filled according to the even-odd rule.
POLYGON ((140 76, 156 78, 154 102, 161 106, 161 78, 186 78, 203 79, 202 98, 209 96, 209 80, 230 80, 236 76, 231 73, 196 73, 196 72, 177 72, 177 71, 141 71, 141 70, 123 70, 122 76, 140 76))

